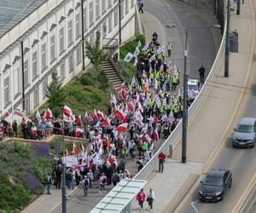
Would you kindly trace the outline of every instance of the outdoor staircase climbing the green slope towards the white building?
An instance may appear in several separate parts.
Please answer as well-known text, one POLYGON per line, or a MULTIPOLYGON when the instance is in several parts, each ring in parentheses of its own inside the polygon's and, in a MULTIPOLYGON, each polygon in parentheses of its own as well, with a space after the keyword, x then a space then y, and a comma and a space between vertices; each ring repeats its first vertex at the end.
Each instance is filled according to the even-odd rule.
POLYGON ((124 81, 109 60, 102 61, 102 70, 105 72, 108 81, 113 83, 113 88, 118 90, 124 81))

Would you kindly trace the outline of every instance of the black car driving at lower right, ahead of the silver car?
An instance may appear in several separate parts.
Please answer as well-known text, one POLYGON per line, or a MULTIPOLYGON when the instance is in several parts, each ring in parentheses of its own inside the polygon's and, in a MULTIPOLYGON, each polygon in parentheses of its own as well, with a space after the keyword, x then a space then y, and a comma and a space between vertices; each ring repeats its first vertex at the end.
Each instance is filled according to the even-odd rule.
POLYGON ((201 181, 198 197, 201 201, 218 201, 224 199, 224 194, 232 186, 230 170, 211 170, 204 181, 201 181))

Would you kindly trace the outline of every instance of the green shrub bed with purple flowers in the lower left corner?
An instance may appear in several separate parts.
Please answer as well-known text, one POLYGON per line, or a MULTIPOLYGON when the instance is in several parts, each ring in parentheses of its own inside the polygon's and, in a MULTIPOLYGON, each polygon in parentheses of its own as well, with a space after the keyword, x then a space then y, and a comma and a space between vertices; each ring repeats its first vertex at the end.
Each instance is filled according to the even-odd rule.
POLYGON ((43 193, 55 160, 49 158, 49 144, 20 142, 2 142, 0 158, 0 212, 19 212, 43 193))

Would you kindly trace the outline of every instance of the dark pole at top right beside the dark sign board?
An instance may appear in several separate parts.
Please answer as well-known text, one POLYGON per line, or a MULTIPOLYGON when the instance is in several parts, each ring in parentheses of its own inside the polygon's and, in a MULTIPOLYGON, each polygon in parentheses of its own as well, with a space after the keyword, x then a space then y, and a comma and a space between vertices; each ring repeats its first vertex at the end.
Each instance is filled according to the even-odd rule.
POLYGON ((230 0, 227 5, 227 28, 226 28, 226 49, 225 49, 225 66, 224 77, 229 77, 230 69, 230 0))

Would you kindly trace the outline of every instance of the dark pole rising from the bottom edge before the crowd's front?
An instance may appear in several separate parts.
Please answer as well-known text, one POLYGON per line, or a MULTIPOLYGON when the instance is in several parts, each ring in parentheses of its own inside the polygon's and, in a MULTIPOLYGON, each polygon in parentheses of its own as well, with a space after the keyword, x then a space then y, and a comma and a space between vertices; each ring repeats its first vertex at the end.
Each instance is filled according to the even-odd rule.
POLYGON ((67 191, 66 191, 66 141, 65 141, 65 126, 63 126, 63 162, 62 162, 62 213, 67 213, 67 191))

